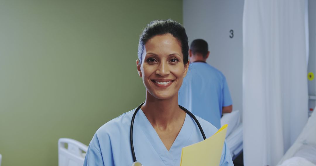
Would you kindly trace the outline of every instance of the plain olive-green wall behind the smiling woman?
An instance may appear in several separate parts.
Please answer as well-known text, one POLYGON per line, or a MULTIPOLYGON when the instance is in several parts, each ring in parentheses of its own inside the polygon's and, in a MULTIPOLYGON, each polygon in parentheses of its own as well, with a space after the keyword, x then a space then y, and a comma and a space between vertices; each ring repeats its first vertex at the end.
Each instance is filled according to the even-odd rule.
POLYGON ((59 138, 88 145, 143 102, 138 38, 167 18, 182 23, 182 0, 1 0, 2 166, 56 166, 59 138))

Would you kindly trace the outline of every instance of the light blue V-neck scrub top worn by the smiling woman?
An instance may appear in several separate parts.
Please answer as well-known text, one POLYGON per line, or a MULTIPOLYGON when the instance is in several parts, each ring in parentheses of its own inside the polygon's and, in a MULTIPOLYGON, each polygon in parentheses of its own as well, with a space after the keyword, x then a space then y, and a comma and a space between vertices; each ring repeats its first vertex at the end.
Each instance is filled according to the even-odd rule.
MULTIPOLYGON (((96 131, 89 144, 84 166, 130 166, 133 163, 130 125, 134 112, 135 109, 124 113, 96 131)), ((196 118, 207 138, 217 131, 209 122, 196 118)), ((144 166, 179 166, 182 148, 203 141, 200 130, 188 114, 169 151, 141 109, 136 114, 133 131, 135 155, 144 166)), ((221 166, 234 165, 226 142, 220 163, 221 166)))

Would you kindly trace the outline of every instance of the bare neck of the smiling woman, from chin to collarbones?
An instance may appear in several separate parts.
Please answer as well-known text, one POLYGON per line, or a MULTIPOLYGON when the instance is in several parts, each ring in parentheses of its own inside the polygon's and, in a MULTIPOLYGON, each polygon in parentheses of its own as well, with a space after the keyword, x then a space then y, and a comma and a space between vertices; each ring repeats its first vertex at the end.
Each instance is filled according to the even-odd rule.
POLYGON ((148 91, 146 101, 142 106, 142 111, 146 115, 153 127, 162 130, 168 129, 170 125, 183 123, 186 113, 179 108, 178 95, 166 100, 153 97, 148 91))

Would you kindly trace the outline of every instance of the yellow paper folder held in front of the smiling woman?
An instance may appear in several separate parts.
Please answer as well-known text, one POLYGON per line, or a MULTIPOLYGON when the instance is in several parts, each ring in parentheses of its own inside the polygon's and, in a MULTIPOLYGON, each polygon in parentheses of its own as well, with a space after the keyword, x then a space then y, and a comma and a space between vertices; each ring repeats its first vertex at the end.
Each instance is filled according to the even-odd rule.
POLYGON ((227 126, 223 125, 206 140, 182 148, 180 166, 219 166, 227 126))

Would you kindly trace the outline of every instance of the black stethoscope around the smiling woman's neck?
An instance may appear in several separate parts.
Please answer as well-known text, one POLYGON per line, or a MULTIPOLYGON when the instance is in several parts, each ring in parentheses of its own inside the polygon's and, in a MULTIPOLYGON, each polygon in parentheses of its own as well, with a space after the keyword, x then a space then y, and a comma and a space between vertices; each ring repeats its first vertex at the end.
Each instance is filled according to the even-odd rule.
MULTIPOLYGON (((135 156, 135 151, 134 151, 134 144, 133 144, 133 126, 134 126, 134 120, 135 120, 135 116, 136 116, 136 113, 138 112, 138 110, 142 107, 142 105, 144 104, 145 102, 143 102, 142 104, 140 104, 134 114, 133 114, 133 117, 132 117, 132 120, 131 120, 131 130, 130 130, 130 142, 131 142, 131 151, 132 151, 132 156, 133 156, 133 163, 132 163, 132 166, 143 166, 140 162, 138 162, 136 160, 136 156, 135 156)), ((191 116, 191 118, 195 121, 195 123, 197 124, 198 128, 200 129, 201 131, 201 134, 203 136, 203 139, 205 140, 206 137, 205 137, 205 134, 204 134, 204 131, 201 127, 201 124, 198 122, 198 120, 196 119, 196 117, 187 109, 185 109, 184 107, 180 106, 179 107, 185 111, 187 114, 189 114, 191 116)))

